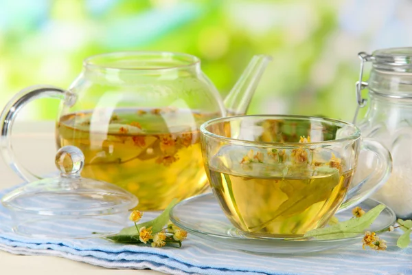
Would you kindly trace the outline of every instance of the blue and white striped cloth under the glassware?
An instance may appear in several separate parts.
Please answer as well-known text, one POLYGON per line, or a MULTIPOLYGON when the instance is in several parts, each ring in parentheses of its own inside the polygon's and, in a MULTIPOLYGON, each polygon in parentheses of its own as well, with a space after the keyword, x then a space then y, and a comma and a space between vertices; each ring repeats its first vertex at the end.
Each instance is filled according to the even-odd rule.
MULTIPOLYGON (((0 198, 6 192, 1 191, 0 198)), ((145 212, 147 219, 155 215, 145 212)), ((306 256, 257 256, 207 243, 192 234, 180 249, 120 245, 103 239, 28 239, 11 232, 10 213, 0 206, 0 250, 168 274, 412 274, 412 248, 396 247, 399 234, 384 236, 386 252, 363 250, 362 244, 356 243, 306 256)))

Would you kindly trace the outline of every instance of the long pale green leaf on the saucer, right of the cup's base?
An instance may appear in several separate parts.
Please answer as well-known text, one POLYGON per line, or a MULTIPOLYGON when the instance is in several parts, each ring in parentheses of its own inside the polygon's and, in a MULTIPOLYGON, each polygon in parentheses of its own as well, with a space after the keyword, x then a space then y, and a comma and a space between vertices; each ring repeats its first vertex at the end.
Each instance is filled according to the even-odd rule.
POLYGON ((330 240, 357 236, 358 234, 361 234, 363 230, 369 228, 369 226, 379 216, 380 212, 382 212, 385 208, 385 205, 380 204, 369 210, 362 217, 336 223, 335 225, 327 228, 310 230, 306 232, 304 238, 313 236, 318 240, 330 240))

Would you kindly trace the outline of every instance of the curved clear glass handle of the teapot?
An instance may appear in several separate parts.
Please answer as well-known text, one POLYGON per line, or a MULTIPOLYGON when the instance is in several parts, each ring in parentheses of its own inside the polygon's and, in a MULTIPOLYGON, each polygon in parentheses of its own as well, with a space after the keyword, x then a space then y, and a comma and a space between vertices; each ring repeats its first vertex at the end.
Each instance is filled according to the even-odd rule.
POLYGON ((36 85, 27 87, 17 93, 4 107, 0 114, 1 124, 1 137, 0 137, 0 152, 4 161, 8 164, 14 172, 19 175, 25 181, 34 181, 41 179, 37 175, 21 166, 16 160, 14 151, 12 149, 11 132, 19 111, 25 107, 25 105, 38 98, 55 98, 64 100, 65 104, 72 105, 76 101, 74 94, 63 89, 46 86, 36 85))

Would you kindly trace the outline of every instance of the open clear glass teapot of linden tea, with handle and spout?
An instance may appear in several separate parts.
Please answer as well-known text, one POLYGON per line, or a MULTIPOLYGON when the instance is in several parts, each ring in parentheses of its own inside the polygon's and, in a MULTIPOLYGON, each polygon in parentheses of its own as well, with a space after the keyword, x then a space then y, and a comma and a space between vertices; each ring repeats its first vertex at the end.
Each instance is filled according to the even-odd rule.
POLYGON ((85 59, 69 89, 23 89, 1 113, 1 153, 23 179, 39 179, 17 162, 10 132, 16 114, 36 98, 61 100, 56 144, 85 156, 83 177, 116 184, 139 198, 140 210, 160 210, 173 198, 207 188, 199 126, 247 111, 268 61, 254 56, 227 98, 189 54, 117 52, 85 59))

